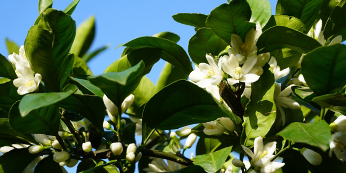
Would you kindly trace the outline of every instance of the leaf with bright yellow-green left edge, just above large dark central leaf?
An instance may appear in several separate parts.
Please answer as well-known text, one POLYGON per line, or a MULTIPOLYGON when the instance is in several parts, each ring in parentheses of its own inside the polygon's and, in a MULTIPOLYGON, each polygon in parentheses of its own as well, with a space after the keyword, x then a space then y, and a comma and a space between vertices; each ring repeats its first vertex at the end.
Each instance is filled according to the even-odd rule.
POLYGON ((173 67, 171 63, 166 62, 156 83, 157 91, 180 79, 187 80, 187 77, 186 73, 182 72, 179 68, 173 67))

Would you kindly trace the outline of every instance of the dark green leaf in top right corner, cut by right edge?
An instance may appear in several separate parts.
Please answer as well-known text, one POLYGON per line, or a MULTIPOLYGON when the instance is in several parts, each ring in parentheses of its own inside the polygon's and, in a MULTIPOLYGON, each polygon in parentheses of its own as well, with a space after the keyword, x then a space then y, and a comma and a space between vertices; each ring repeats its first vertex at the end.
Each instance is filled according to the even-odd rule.
POLYGON ((341 35, 342 42, 346 40, 346 21, 343 16, 346 16, 346 0, 341 1, 333 10, 327 24, 324 28, 323 35, 327 40, 332 40, 341 35))

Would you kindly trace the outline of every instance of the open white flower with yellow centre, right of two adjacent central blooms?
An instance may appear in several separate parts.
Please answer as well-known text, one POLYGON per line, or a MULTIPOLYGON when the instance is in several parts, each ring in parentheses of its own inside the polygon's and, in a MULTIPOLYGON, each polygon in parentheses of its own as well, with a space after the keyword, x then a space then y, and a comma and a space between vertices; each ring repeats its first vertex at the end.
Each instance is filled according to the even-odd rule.
POLYGON ((222 57, 223 71, 230 75, 232 78, 227 79, 229 85, 237 84, 239 82, 253 83, 259 79, 256 74, 249 73, 257 62, 257 55, 249 57, 243 66, 239 66, 239 61, 234 54, 222 57))

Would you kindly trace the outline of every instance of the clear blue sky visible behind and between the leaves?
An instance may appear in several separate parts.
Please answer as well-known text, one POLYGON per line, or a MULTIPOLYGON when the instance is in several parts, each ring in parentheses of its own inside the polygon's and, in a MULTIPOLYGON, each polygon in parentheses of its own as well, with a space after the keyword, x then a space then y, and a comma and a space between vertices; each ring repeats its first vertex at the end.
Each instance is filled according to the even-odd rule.
MULTIPOLYGON (((55 0, 53 8, 65 9, 72 0, 55 0)), ((276 0, 269 0, 272 13, 276 0)), ((8 56, 5 38, 23 45, 27 32, 39 15, 39 0, 0 0, 0 53, 8 56), (2 41, 1 41, 2 40, 2 41)), ((120 58, 124 48, 115 49, 119 44, 141 36, 152 36, 160 32, 173 32, 180 36, 178 42, 187 52, 189 39, 195 34, 194 27, 177 23, 172 15, 176 13, 209 14, 226 0, 81 0, 72 14, 77 26, 90 15, 96 18, 96 35, 90 50, 105 44, 110 47, 88 63, 91 71, 102 74, 106 67, 120 58)), ((154 84, 165 64, 160 60, 148 75, 154 84)), ((139 143, 140 140, 137 141, 139 143)), ((183 141, 184 143, 184 141, 183 141)), ((195 146, 185 153, 195 153, 195 146)), ((75 173, 77 167, 69 169, 75 173)))

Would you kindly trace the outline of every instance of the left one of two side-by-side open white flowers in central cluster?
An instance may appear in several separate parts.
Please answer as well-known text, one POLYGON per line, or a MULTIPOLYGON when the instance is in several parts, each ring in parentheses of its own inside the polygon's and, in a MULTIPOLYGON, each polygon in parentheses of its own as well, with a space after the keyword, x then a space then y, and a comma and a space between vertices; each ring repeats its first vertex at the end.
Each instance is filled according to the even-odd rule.
POLYGON ((206 55, 209 64, 200 63, 199 67, 195 66, 195 70, 189 75, 192 82, 196 83, 198 87, 217 86, 220 84, 223 74, 221 71, 221 61, 218 65, 211 55, 206 55))

